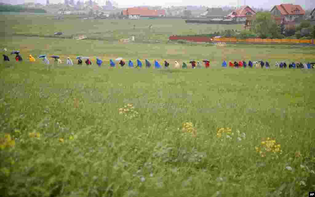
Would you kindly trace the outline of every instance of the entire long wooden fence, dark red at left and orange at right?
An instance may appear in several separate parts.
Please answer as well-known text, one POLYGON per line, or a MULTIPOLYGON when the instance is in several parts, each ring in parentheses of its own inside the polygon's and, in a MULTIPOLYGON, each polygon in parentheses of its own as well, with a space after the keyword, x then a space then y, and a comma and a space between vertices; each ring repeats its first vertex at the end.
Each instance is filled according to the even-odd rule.
POLYGON ((251 43, 291 43, 291 44, 315 44, 314 40, 299 39, 237 39, 237 38, 210 38, 201 36, 170 36, 169 40, 187 40, 194 42, 251 42, 251 43))

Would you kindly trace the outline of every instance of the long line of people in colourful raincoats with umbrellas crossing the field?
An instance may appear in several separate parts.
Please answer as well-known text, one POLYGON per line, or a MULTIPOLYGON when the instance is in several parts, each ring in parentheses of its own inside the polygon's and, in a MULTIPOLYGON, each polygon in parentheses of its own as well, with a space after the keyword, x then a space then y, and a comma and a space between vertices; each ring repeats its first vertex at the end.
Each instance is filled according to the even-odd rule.
MULTIPOLYGON (((19 51, 11 52, 11 54, 16 54, 16 56, 15 56, 16 61, 20 61, 20 62, 23 61, 19 51)), ((54 62, 57 62, 58 64, 62 63, 59 56, 53 55, 50 57, 54 59, 54 62)), ((49 59, 47 58, 47 55, 40 55, 40 56, 38 56, 38 58, 43 58, 43 62, 45 64, 49 64, 49 59)), ((83 59, 85 59, 86 65, 88 65, 88 66, 92 65, 92 62, 91 62, 89 57, 78 56, 76 59, 78 60, 78 62, 77 62, 78 65, 83 64, 83 61, 82 61, 83 59)), ((3 54, 3 60, 4 61, 10 61, 9 57, 4 55, 4 54, 3 54)), ((29 55, 29 60, 30 60, 30 62, 35 62, 35 58, 32 55, 29 55)), ((125 61, 123 61, 122 58, 117 58, 116 61, 119 62, 118 64, 121 67, 123 67, 125 65, 125 61)), ((96 64, 100 67, 102 65, 102 63, 103 63, 103 61, 99 57, 97 57, 96 58, 96 64)), ((116 66, 116 63, 112 59, 110 59, 109 63, 110 63, 111 67, 116 66)), ((146 59, 145 63, 146 63, 146 68, 151 67, 151 63, 149 62, 149 60, 146 59)), ((203 68, 203 66, 200 64, 200 62, 196 62, 193 59, 190 60, 189 63, 192 65, 192 68, 203 68)), ((210 67, 210 61, 208 59, 203 60, 203 63, 204 63, 205 68, 210 67)), ((72 62, 70 57, 67 57, 66 64, 73 65, 73 62, 72 62)), ((309 63, 309 62, 307 64, 292 62, 289 64, 289 68, 308 68, 308 69, 310 69, 310 68, 314 68, 314 64, 315 63, 309 63)), ((264 68, 264 67, 270 68, 269 62, 268 61, 264 62, 262 60, 255 61, 255 62, 249 61, 248 63, 246 63, 245 61, 239 61, 239 62, 235 61, 234 63, 230 61, 228 65, 229 65, 229 67, 234 67, 234 68, 246 68, 247 66, 250 68, 253 68, 253 66, 256 68, 264 68)), ((132 60, 129 60, 128 66, 134 67, 132 60)), ((154 60, 154 66, 155 66, 155 68, 161 68, 160 63, 157 60, 154 60)), ((280 63, 276 62, 275 66, 278 68, 287 68, 287 64, 285 62, 280 62, 280 63)), ((142 62, 139 59, 137 59, 136 68, 141 68, 141 67, 142 67, 142 62)), ((169 67, 169 63, 166 60, 164 61, 164 67, 165 68, 169 67)), ((187 64, 185 62, 182 63, 181 67, 182 68, 188 68, 187 64)), ((222 63, 222 67, 227 67, 227 62, 225 60, 222 63)), ((178 63, 178 61, 175 61, 175 68, 180 68, 180 64, 178 63)))

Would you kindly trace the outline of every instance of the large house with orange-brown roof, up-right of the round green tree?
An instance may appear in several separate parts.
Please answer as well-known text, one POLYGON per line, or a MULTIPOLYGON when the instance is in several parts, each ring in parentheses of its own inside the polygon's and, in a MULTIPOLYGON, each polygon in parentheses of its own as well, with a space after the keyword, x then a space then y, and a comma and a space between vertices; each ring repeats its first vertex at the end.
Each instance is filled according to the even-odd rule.
POLYGON ((305 15, 305 10, 300 5, 292 3, 276 5, 270 12, 274 16, 284 18, 286 22, 294 22, 305 15))

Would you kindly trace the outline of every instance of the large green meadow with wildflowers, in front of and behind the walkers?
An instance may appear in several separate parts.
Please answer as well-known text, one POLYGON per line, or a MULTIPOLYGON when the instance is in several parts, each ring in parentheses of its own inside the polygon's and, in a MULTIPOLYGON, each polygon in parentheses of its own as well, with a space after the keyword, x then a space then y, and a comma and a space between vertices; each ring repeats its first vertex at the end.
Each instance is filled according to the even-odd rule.
MULTIPOLYGON (((59 26, 70 20, 77 19, 59 26)), ((314 62, 315 47, 164 42, 165 34, 184 34, 184 24, 175 33, 162 29, 170 33, 159 44, 121 44, 115 33, 108 41, 8 36, 14 27, 0 37, 6 54, 20 50, 24 58, 0 61, 0 196, 304 197, 315 190, 314 70, 273 66, 314 62), (47 69, 29 54, 60 55, 63 63, 47 69), (94 64, 66 66, 78 55, 94 64), (166 59, 171 68, 109 69, 117 57, 166 59), (172 68, 191 58, 207 58, 211 68, 172 68), (221 68, 224 59, 268 60, 272 68, 221 68)))

